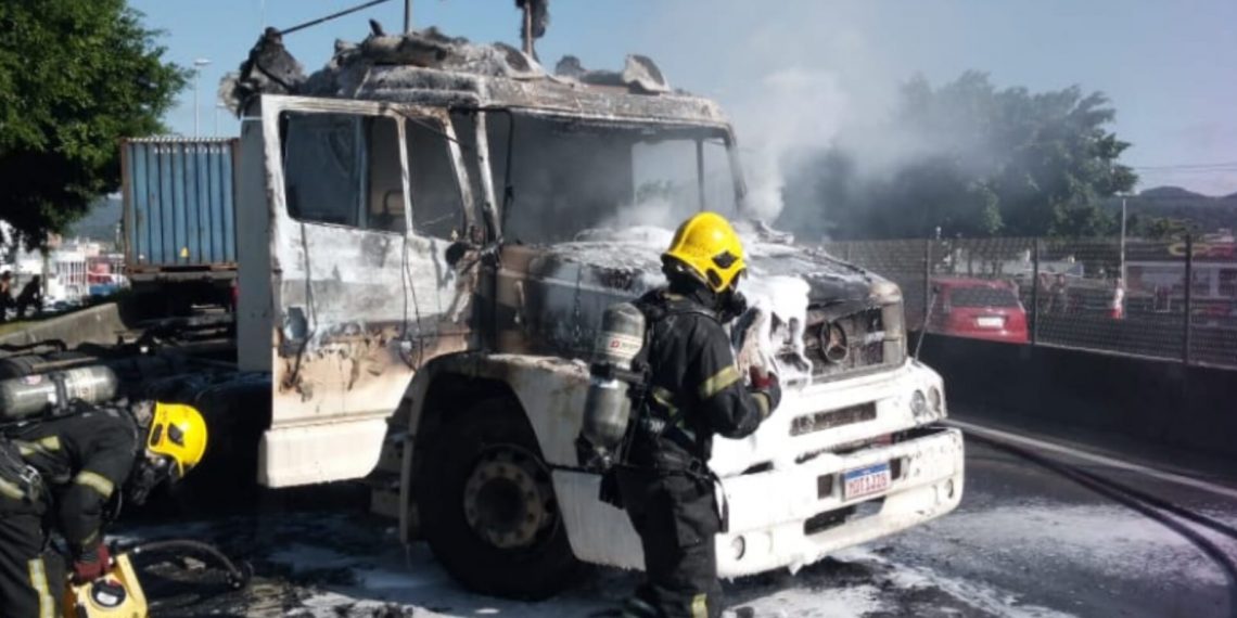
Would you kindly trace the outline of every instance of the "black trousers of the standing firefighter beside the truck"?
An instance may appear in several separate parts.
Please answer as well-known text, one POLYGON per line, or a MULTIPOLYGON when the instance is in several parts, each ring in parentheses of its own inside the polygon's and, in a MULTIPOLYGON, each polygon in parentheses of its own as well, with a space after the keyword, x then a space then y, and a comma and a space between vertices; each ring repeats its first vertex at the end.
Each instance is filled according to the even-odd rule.
POLYGON ((618 489, 644 550, 644 583, 625 616, 717 618, 721 585, 714 538, 721 528, 713 482, 654 470, 618 472, 618 489))

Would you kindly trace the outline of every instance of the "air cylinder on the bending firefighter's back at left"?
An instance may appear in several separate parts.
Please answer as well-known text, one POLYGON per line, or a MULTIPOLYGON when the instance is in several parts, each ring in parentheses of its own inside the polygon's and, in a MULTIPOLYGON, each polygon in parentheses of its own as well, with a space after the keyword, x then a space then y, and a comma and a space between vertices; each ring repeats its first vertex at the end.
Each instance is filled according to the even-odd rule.
POLYGON ((0 381, 0 423, 43 414, 74 399, 103 403, 116 397, 118 386, 116 375, 103 365, 0 381))

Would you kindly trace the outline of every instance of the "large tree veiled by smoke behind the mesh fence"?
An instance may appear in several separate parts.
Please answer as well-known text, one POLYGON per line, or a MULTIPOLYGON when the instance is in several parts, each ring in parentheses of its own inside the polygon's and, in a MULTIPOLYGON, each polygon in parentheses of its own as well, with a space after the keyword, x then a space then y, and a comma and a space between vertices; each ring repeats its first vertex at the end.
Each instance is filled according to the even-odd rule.
POLYGON ((1106 129, 1115 114, 1077 87, 918 77, 884 126, 844 132, 790 177, 781 222, 837 239, 1112 234, 1101 200, 1137 180, 1117 162, 1129 145, 1106 129))

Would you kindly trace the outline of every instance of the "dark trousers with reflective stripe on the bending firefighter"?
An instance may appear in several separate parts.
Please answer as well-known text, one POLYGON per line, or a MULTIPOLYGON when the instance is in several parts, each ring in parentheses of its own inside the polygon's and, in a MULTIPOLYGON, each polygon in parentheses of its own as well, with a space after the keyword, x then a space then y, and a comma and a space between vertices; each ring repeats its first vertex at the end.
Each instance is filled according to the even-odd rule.
POLYGON ((0 616, 59 618, 64 561, 45 551, 42 514, 0 498, 0 616))

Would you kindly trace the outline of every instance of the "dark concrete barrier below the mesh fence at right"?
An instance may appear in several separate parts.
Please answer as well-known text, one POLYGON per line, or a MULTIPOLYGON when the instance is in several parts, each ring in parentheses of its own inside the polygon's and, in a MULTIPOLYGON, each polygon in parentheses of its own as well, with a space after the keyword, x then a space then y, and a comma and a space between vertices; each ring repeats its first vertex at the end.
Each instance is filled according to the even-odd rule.
POLYGON ((980 414, 1113 431, 1237 459, 1237 370, 928 335, 922 358, 980 414))

